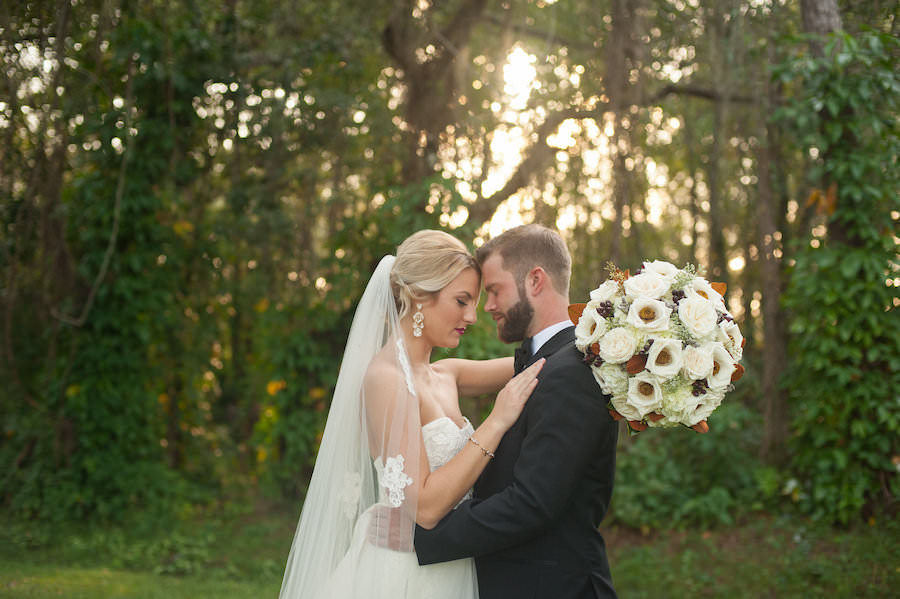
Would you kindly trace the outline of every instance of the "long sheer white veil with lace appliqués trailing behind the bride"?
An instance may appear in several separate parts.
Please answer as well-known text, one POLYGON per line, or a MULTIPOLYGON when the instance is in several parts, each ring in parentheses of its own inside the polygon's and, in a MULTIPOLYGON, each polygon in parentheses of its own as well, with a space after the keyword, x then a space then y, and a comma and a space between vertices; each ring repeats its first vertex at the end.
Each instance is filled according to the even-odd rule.
MULTIPOLYGON (((323 597, 341 560, 352 559, 348 549, 354 535, 390 548, 376 556, 414 551, 414 479, 425 456, 418 401, 391 290, 394 260, 385 256, 379 262, 353 317, 279 599, 323 597), (373 360, 379 372, 396 369, 393 372, 403 376, 370 375, 367 380, 373 360), (366 388, 374 386, 377 400, 370 392, 367 401, 366 388)), ((373 576, 380 570, 367 568, 354 575, 373 576)), ((370 582, 376 581, 354 584, 374 588, 367 587, 370 582)))

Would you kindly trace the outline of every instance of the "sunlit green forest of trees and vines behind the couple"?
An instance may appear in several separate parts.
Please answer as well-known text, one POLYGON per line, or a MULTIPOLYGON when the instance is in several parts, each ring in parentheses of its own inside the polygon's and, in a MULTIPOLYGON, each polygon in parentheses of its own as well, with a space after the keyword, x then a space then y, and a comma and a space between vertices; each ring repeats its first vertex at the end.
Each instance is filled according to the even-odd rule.
MULTIPOLYGON (((560 229, 727 283, 712 432, 623 435, 610 522, 900 497, 898 2, 0 7, 0 505, 296 516, 356 301, 410 232, 560 229)), ((489 319, 436 357, 508 355, 489 319)), ((491 398, 471 398, 470 417, 491 398)), ((9 529, 12 530, 12 529, 9 529)), ((16 529, 20 530, 21 529, 16 529)))

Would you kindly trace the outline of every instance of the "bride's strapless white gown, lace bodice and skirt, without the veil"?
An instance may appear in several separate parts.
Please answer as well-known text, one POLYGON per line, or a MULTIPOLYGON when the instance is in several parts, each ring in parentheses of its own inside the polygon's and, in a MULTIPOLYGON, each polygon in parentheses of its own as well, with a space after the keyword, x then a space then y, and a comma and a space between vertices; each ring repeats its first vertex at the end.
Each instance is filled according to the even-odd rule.
MULTIPOLYGON (((468 420, 458 427, 446 416, 424 425, 422 439, 431 471, 449 462, 473 432, 468 420)), ((473 559, 420 566, 415 553, 369 543, 370 515, 377 508, 376 504, 357 521, 350 548, 320 599, 477 599, 473 559)))

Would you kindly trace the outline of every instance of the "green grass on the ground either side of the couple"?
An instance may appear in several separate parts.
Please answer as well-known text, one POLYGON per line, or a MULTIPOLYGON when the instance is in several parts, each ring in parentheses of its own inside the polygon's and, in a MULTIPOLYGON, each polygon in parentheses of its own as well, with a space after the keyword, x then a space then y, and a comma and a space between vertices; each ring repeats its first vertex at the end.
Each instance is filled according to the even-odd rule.
MULTIPOLYGON (((0 532, 0 597, 275 598, 292 510, 231 510, 130 527, 10 520, 0 532)), ((713 530, 604 529, 621 599, 868 598, 900 588, 900 523, 835 529, 758 515, 713 530)))

